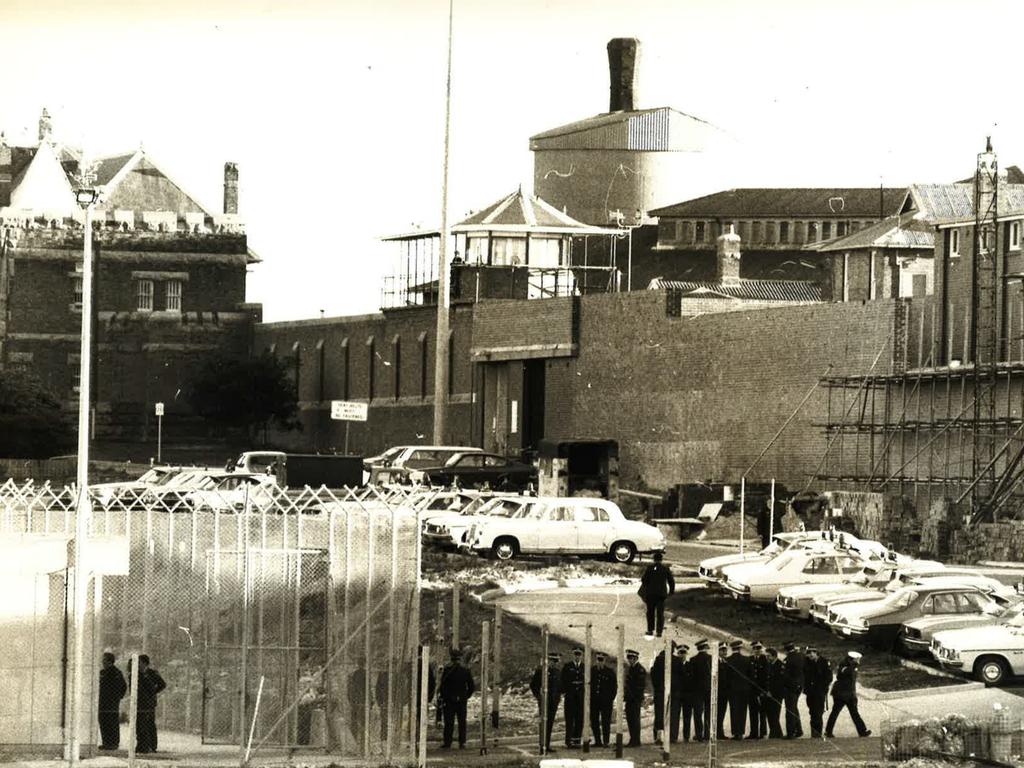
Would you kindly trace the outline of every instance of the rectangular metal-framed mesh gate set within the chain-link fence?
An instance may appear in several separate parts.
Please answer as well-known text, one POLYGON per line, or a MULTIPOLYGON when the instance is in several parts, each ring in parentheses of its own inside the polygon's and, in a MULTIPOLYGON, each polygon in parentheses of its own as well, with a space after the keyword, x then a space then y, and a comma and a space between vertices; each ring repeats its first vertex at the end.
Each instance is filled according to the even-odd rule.
POLYGON ((207 552, 204 743, 329 746, 330 584, 326 550, 207 552))

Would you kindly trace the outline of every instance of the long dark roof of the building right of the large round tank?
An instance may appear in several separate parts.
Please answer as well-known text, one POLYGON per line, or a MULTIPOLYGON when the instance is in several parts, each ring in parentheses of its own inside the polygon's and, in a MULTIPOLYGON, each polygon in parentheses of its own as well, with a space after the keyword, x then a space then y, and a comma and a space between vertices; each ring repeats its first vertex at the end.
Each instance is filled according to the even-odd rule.
POLYGON ((668 217, 818 216, 879 218, 899 210, 906 187, 743 187, 650 211, 668 217), (881 191, 881 195, 880 195, 881 191))

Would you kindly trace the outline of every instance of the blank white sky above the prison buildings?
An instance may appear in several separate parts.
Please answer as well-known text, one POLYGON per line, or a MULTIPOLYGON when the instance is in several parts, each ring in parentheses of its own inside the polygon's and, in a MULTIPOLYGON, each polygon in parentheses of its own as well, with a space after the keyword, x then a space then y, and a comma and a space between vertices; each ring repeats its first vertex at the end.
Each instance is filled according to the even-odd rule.
MULTIPOLYGON (((454 0, 450 216, 522 184, 530 135, 607 110, 605 45, 641 41, 636 105, 733 139, 707 191, 1024 166, 1007 0, 454 0)), ((248 299, 267 321, 375 311, 380 238, 440 220, 446 0, 0 0, 0 129, 140 144, 208 209, 239 164, 248 299)), ((679 201, 665 201, 666 204, 679 201)))

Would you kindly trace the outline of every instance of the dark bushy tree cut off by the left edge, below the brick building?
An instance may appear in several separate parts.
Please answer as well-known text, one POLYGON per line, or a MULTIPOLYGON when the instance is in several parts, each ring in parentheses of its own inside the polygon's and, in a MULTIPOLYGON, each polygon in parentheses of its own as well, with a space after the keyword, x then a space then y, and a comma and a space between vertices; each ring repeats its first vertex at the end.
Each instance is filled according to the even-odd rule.
POLYGON ((75 432, 60 401, 39 381, 18 371, 0 375, 0 456, 45 459, 67 453, 75 432))

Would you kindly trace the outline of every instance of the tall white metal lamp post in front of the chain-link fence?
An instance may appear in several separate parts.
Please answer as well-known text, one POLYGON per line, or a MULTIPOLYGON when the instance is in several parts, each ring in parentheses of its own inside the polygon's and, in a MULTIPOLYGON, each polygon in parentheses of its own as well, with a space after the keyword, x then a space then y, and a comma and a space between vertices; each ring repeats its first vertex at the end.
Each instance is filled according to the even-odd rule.
POLYGON ((91 178, 84 175, 82 186, 75 197, 85 211, 85 227, 82 239, 82 339, 79 351, 78 381, 78 499, 75 505, 75 645, 72 658, 72 693, 70 750, 68 762, 77 766, 81 758, 81 733, 83 713, 88 708, 84 706, 83 693, 85 686, 85 608, 88 601, 89 574, 86 569, 85 550, 86 537, 89 529, 89 518, 92 515, 92 504, 89 501, 89 384, 91 382, 92 352, 92 208, 99 200, 99 191, 91 185, 91 178))

